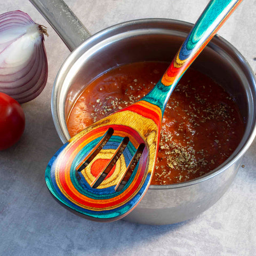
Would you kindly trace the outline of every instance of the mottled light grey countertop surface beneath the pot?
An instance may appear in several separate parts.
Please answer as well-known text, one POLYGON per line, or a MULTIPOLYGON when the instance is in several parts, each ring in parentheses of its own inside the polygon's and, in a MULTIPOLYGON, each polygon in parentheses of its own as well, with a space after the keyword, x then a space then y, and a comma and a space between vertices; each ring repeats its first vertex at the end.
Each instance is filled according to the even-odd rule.
MULTIPOLYGON (((62 145, 51 115, 54 78, 69 51, 37 10, 24 0, 1 0, 0 13, 27 12, 48 27, 49 78, 35 100, 22 105, 26 129, 0 152, 0 255, 256 255, 256 142, 233 185, 197 218, 166 226, 77 217, 51 197, 44 181, 49 159, 62 145)), ((207 0, 68 0, 91 34, 139 18, 195 22, 207 0)), ((255 0, 244 0, 219 31, 256 71, 255 0)))

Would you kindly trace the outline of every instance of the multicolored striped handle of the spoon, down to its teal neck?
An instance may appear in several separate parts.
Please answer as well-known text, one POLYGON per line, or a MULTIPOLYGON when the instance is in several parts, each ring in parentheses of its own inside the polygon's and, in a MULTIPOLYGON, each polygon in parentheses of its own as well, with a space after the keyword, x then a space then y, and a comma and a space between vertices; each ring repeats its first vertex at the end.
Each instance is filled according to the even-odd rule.
POLYGON ((170 95, 182 75, 241 2, 242 0, 212 0, 191 29, 161 80, 141 100, 161 108, 163 115, 170 95))

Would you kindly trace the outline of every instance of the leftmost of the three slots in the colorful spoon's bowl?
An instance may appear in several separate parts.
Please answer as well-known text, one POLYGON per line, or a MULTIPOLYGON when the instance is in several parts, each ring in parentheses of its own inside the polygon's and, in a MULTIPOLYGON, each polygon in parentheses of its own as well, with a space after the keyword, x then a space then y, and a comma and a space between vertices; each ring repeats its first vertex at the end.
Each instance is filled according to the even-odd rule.
POLYGON ((83 171, 85 167, 93 161, 95 156, 97 156, 100 153, 100 150, 107 144, 113 133, 113 128, 109 128, 92 153, 86 156, 85 159, 76 167, 77 172, 83 171))

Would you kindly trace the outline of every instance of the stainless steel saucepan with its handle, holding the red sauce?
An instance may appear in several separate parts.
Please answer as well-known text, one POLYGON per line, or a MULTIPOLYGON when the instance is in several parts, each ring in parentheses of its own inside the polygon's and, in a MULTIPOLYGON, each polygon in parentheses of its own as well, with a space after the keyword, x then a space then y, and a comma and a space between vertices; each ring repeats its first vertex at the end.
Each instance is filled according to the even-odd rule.
MULTIPOLYGON (((31 2, 52 23, 70 50, 88 37, 78 20, 71 25, 70 20, 57 22, 61 12, 70 13, 62 1, 55 1, 59 2, 59 10, 56 6, 51 9, 51 1, 31 2), (66 28, 62 23, 66 23, 66 28), (74 24, 78 33, 74 33, 74 24), (74 34, 71 37, 67 32, 70 29, 74 34)), ((76 19, 73 13, 69 18, 76 19)), ((61 14, 61 19, 66 20, 66 16, 61 14)), ((52 116, 61 141, 64 143, 70 138, 66 117, 86 84, 106 70, 125 63, 171 61, 191 27, 190 23, 178 20, 134 20, 102 30, 79 45, 63 63, 53 86, 52 116)), ((135 210, 124 218, 127 221, 164 225, 202 213, 217 202, 233 182, 242 156, 255 137, 256 78, 241 53, 225 39, 215 36, 192 67, 212 77, 233 95, 245 124, 243 139, 227 161, 209 174, 180 184, 150 186, 135 210)))

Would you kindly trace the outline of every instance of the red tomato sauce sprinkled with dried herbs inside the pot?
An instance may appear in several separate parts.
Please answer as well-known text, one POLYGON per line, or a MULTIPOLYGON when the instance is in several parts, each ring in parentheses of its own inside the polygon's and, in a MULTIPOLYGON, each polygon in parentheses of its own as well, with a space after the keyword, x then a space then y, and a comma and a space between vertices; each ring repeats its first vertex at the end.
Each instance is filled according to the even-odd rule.
MULTIPOLYGON (((141 99, 168 66, 166 62, 131 63, 95 79, 69 113, 71 137, 141 99)), ((233 153, 243 131, 234 99, 211 78, 187 70, 165 109, 151 185, 184 182, 212 171, 233 153)))

